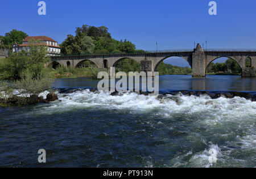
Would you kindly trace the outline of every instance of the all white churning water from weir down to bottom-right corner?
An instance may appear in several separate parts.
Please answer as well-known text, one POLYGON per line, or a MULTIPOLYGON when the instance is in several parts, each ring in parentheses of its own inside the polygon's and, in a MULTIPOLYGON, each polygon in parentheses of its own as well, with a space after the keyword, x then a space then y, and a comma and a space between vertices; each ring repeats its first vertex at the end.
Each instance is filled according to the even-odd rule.
MULTIPOLYGON (((150 118, 143 123, 169 131, 177 138, 182 136, 181 141, 188 141, 187 145, 198 145, 199 148, 181 153, 164 166, 244 166, 248 162, 256 166, 255 157, 246 159, 246 153, 256 153, 256 102, 240 97, 210 99, 208 95, 146 96, 127 92, 112 96, 108 92, 93 93, 89 89, 56 93, 61 101, 34 107, 34 110, 26 111, 26 115, 58 114, 80 109, 119 110, 144 114, 145 118, 150 115, 156 118, 155 121, 150 118), (179 128, 172 125, 179 123, 178 120, 181 122, 179 128), (209 151, 216 154, 216 163, 209 161, 209 157, 214 157, 209 151), (237 157, 243 152, 243 159, 237 157)), ((139 132, 146 133, 147 130, 135 131, 139 132)), ((164 139, 159 141, 165 143, 164 139)), ((155 165, 152 160, 147 160, 144 166, 155 165)))

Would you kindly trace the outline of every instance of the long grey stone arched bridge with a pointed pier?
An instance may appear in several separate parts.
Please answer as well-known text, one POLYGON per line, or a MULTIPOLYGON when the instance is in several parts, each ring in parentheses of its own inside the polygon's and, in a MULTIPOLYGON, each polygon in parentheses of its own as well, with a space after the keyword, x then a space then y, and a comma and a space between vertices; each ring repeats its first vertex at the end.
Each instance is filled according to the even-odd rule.
POLYGON ((133 53, 133 54, 113 54, 113 55, 78 55, 78 56, 56 56, 51 57, 52 63, 59 63, 63 66, 77 68, 84 61, 89 60, 98 68, 115 67, 119 61, 130 58, 134 59, 141 66, 141 71, 155 72, 158 65, 168 57, 182 57, 188 61, 192 68, 193 77, 205 77, 205 72, 210 63, 219 57, 229 57, 236 61, 242 69, 242 77, 255 77, 256 51, 204 51, 200 44, 193 51, 173 51, 155 53, 133 53), (246 58, 250 58, 251 66, 246 67, 246 58))

